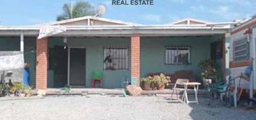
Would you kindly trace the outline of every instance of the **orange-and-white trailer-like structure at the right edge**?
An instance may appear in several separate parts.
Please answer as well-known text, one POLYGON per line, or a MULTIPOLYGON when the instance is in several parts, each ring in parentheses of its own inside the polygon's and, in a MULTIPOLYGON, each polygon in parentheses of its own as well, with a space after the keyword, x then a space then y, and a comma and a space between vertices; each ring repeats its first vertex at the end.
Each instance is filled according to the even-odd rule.
MULTIPOLYGON (((256 15, 251 19, 240 21, 241 24, 232 29, 230 35, 229 47, 229 68, 230 76, 238 76, 245 71, 245 68, 250 65, 250 58, 256 58, 256 15)), ((256 68, 255 61, 253 68, 256 68)), ((238 87, 242 89, 250 89, 250 97, 253 97, 253 90, 256 89, 256 70, 253 69, 250 81, 245 79, 237 79, 238 87)))

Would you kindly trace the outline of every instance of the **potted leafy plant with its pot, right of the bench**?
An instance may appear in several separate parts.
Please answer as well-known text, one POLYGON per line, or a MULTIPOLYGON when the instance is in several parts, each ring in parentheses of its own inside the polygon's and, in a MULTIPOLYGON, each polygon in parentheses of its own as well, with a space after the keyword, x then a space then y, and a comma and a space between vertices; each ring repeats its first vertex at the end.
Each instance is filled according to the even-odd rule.
POLYGON ((206 87, 207 84, 212 84, 212 81, 217 79, 217 64, 214 61, 211 59, 202 60, 198 66, 202 70, 201 76, 204 87, 206 87))

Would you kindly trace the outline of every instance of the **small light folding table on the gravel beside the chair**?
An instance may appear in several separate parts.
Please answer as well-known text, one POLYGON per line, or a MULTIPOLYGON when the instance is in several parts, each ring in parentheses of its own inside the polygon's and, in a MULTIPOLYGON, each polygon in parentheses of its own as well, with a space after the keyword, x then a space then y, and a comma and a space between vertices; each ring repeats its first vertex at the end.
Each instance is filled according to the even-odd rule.
POLYGON ((184 84, 184 94, 182 96, 182 101, 185 101, 186 104, 189 104, 189 103, 199 104, 198 99, 197 99, 197 92, 198 92, 198 87, 201 83, 199 83, 199 82, 188 82, 188 83, 183 83, 183 84, 184 84), (188 86, 193 86, 194 87, 195 101, 189 101, 188 93, 187 93, 188 86), (184 97, 186 97, 186 99, 184 99, 184 97))

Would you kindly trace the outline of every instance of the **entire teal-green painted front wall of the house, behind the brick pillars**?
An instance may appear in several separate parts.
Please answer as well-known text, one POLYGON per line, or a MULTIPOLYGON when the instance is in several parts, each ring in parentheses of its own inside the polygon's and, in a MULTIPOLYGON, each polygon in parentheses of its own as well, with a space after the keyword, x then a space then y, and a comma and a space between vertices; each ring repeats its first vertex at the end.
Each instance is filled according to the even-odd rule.
MULTIPOLYGON (((174 74, 179 70, 192 70, 201 80, 197 66, 202 59, 210 58, 210 43, 219 39, 217 36, 161 36, 141 37, 141 77, 148 73, 174 74), (171 65, 165 62, 166 46, 191 46, 191 64, 171 65)), ((128 70, 103 71, 105 88, 121 88, 125 79, 131 79, 131 40, 130 37, 68 37, 67 46, 86 49, 86 86, 91 86, 91 74, 95 70, 103 71, 103 46, 128 46, 128 70)), ((62 37, 50 37, 49 47, 63 46, 62 37)), ((30 64, 30 85, 35 86, 35 37, 24 39, 24 60, 30 64)), ((19 50, 19 37, 0 38, 0 51, 19 50)), ((222 62, 222 61, 219 61, 222 62)), ((222 64, 222 63, 221 63, 222 64)), ((48 86, 53 84, 54 71, 48 71, 48 86)))

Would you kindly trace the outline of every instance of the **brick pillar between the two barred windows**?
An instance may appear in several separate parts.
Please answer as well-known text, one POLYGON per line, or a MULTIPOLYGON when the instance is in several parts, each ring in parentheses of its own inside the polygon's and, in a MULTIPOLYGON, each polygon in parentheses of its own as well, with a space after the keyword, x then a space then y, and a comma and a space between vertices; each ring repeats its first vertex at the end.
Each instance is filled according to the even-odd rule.
POLYGON ((131 36, 131 84, 140 86, 141 78, 141 39, 139 34, 131 36))

